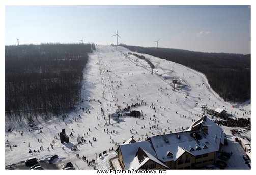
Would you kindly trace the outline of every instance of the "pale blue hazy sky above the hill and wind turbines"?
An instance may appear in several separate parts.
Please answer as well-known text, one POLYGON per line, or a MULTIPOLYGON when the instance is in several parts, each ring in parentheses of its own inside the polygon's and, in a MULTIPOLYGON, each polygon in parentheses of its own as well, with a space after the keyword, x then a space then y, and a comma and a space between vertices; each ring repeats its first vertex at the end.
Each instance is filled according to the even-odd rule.
POLYGON ((250 6, 6 6, 5 44, 116 44, 251 52, 250 6))

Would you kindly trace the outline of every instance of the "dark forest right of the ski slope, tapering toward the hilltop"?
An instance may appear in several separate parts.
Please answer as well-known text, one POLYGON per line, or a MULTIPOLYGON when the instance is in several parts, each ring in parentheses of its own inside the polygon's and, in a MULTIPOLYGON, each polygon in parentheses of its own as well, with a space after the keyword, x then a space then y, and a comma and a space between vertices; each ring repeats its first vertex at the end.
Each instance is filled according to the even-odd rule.
POLYGON ((202 72, 212 89, 226 101, 244 102, 250 99, 250 54, 123 46, 131 51, 160 57, 202 72))

